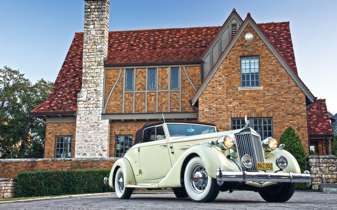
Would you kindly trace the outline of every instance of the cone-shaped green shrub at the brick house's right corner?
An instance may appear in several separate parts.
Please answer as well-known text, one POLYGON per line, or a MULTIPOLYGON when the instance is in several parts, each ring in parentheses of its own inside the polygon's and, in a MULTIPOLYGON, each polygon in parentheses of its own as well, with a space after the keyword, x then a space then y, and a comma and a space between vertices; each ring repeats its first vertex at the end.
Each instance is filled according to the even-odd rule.
MULTIPOLYGON (((288 151, 295 157, 298 165, 300 166, 301 173, 303 173, 305 170, 308 170, 302 141, 291 126, 287 127, 282 133, 279 144, 285 144, 284 150, 288 151)), ((296 183, 296 188, 302 190, 309 189, 309 187, 305 186, 304 183, 296 183)))

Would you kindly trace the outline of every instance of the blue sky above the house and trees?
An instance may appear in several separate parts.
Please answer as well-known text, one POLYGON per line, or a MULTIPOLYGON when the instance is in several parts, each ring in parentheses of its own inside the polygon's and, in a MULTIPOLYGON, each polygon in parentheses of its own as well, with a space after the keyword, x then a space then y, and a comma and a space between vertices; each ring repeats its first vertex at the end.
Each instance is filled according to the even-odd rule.
MULTIPOLYGON (((336 114, 335 0, 110 0, 109 30, 221 26, 233 8, 256 23, 290 22, 299 76, 336 114)), ((0 0, 0 67, 20 69, 33 83, 55 81, 83 24, 84 0, 0 0)))

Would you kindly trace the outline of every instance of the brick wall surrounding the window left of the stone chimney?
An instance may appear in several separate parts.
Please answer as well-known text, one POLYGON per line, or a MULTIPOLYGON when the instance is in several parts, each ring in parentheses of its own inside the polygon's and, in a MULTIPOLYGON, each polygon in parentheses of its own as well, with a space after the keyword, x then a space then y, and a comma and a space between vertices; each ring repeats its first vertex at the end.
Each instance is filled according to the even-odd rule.
POLYGON ((47 123, 45 133, 44 158, 55 157, 55 136, 72 136, 71 157, 75 153, 76 123, 47 123))

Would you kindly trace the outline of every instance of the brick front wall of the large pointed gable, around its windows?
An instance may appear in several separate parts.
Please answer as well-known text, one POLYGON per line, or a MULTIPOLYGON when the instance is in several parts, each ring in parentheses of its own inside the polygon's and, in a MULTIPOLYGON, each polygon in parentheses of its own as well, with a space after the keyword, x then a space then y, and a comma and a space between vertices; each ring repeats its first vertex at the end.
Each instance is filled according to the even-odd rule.
POLYGON ((292 126, 308 154, 305 94, 281 66, 262 39, 248 25, 199 97, 199 120, 231 129, 231 118, 272 117, 274 138, 292 126), (254 38, 247 41, 244 35, 254 38), (263 89, 241 87, 240 56, 258 55, 263 89))

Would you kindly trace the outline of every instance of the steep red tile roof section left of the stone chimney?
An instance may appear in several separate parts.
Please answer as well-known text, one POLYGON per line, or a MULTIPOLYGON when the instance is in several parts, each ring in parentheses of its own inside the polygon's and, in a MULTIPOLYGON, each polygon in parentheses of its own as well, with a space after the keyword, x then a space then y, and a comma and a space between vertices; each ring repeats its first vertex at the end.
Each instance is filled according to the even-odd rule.
POLYGON ((82 88, 82 60, 83 33, 75 33, 47 101, 31 113, 77 110, 77 94, 82 88))

